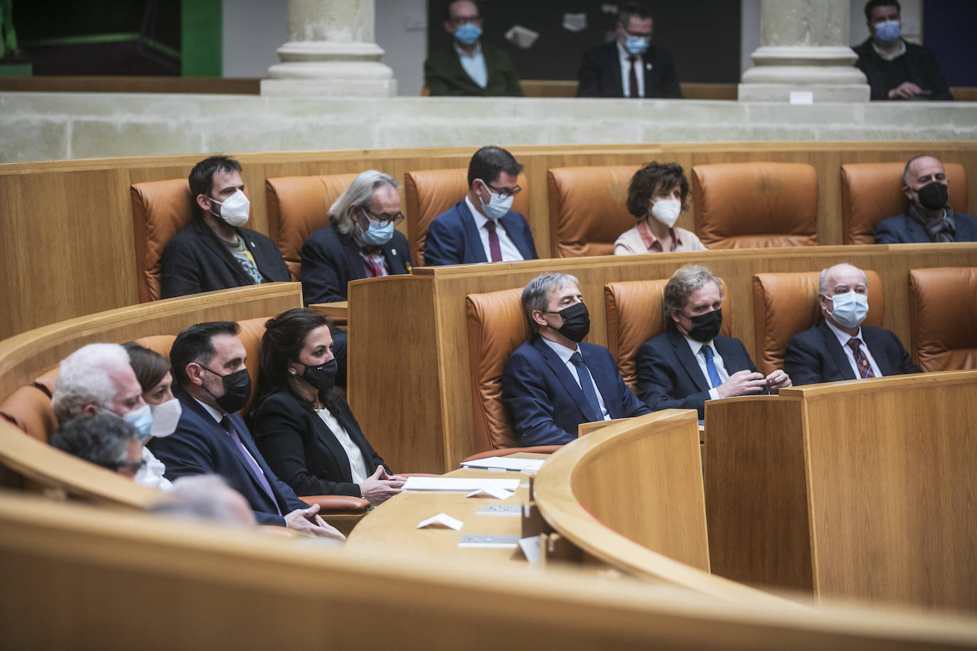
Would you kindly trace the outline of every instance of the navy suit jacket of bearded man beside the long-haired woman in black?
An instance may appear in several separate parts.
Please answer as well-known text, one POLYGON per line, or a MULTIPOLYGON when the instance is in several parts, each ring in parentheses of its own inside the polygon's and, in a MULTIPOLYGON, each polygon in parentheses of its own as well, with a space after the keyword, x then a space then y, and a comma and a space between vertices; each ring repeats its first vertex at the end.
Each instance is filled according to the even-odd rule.
MULTIPOLYGON (((170 481, 185 475, 219 474, 244 496, 259 524, 285 526, 285 518, 278 515, 275 505, 262 488, 250 464, 241 457, 228 432, 181 387, 173 387, 173 394, 180 399, 183 414, 176 431, 163 438, 149 440, 149 450, 166 466, 166 478, 170 481)), ((272 486, 277 507, 282 515, 295 509, 308 509, 309 505, 296 497, 295 492, 279 480, 268 467, 261 452, 254 444, 244 420, 237 414, 229 414, 237 434, 247 451, 251 453, 265 478, 272 486)))

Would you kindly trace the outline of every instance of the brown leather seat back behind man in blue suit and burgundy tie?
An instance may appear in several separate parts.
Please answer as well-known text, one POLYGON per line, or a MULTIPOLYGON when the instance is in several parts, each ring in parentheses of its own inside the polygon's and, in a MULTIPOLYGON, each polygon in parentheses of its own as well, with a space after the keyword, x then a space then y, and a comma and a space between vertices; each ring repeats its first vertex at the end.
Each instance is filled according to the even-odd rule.
MULTIPOLYGON (((517 181, 523 191, 516 195, 512 209, 530 218, 529 182, 525 174, 517 181)), ((404 174, 404 199, 407 215, 407 242, 415 266, 424 266, 424 238, 434 218, 465 198, 468 169, 422 170, 404 174)))

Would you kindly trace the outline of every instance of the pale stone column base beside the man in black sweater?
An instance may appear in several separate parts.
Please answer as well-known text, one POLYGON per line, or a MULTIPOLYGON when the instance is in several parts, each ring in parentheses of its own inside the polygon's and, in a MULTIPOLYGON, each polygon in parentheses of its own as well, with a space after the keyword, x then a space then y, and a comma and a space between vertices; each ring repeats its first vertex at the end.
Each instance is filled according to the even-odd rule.
POLYGON ((742 102, 787 102, 811 91, 815 102, 868 102, 865 74, 848 47, 850 0, 761 0, 760 47, 743 72, 742 102))

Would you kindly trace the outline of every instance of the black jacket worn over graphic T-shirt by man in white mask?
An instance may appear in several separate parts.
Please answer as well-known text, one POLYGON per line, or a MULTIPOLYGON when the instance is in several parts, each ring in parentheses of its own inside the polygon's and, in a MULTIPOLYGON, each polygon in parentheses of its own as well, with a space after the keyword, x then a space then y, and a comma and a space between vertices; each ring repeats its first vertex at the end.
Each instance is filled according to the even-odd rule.
MULTIPOLYGON (((237 228, 265 282, 292 279, 275 242, 250 228, 237 228)), ((252 285, 251 279, 214 229, 199 217, 166 243, 162 258, 162 297, 252 285)))

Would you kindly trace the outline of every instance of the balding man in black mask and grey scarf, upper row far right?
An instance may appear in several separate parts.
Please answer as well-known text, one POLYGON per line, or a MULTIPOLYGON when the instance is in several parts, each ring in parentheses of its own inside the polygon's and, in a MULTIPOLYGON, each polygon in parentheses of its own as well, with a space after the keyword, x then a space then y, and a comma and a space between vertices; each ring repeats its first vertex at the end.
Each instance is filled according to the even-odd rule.
POLYGON ((977 241, 977 219, 954 212, 947 204, 949 188, 939 159, 927 155, 911 158, 903 171, 903 193, 909 199, 909 210, 879 222, 875 243, 977 241))

